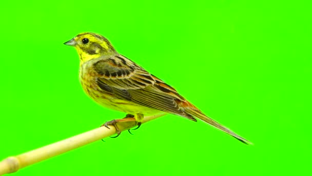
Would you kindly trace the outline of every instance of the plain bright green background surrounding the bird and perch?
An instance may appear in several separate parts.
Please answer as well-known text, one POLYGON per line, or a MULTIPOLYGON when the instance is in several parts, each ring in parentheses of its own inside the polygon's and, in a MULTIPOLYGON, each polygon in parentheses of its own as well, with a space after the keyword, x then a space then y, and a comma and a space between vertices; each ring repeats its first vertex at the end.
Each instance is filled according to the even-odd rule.
POLYGON ((254 145, 167 115, 12 175, 312 173, 308 1, 54 2, 0 3, 0 159, 124 117, 82 90, 87 31, 254 145))

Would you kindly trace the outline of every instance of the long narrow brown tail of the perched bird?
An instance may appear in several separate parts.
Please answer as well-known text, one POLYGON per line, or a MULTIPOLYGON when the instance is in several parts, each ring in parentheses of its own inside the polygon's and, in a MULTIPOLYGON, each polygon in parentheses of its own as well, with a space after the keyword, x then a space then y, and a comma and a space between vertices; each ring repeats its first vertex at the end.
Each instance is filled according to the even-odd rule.
MULTIPOLYGON (((189 103, 189 102, 188 102, 189 103)), ((194 107, 192 104, 189 103, 189 105, 191 107, 189 108, 185 108, 184 111, 196 118, 199 118, 201 120, 203 120, 204 122, 206 122, 207 124, 218 128, 219 130, 224 131, 225 133, 237 138, 238 140, 240 140, 240 142, 244 143, 244 144, 251 144, 248 140, 244 139, 243 137, 235 134, 234 132, 232 132, 231 130, 225 128, 224 126, 222 126, 221 124, 219 124, 217 121, 212 120, 211 118, 207 117, 205 114, 203 114, 199 109, 197 109, 196 107, 194 107)))

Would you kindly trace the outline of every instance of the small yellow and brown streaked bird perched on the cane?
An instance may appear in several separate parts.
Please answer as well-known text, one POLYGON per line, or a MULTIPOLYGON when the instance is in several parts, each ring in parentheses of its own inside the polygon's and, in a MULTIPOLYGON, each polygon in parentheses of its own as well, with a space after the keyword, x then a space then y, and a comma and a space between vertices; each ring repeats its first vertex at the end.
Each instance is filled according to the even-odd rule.
POLYGON ((84 91, 104 107, 127 113, 126 118, 105 123, 106 127, 113 125, 118 135, 121 131, 116 122, 136 121, 140 127, 144 116, 170 113, 192 121, 199 118, 241 142, 249 143, 207 117, 170 85, 119 54, 103 36, 81 33, 64 44, 74 46, 78 51, 80 82, 84 91))

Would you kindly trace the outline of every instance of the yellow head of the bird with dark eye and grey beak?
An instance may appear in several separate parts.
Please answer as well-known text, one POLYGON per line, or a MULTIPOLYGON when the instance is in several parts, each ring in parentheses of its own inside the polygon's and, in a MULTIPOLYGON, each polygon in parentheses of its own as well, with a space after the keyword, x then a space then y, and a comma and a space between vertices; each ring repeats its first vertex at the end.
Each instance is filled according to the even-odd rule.
POLYGON ((116 50, 106 38, 91 32, 80 33, 64 44, 77 49, 82 63, 101 56, 116 54, 116 50))

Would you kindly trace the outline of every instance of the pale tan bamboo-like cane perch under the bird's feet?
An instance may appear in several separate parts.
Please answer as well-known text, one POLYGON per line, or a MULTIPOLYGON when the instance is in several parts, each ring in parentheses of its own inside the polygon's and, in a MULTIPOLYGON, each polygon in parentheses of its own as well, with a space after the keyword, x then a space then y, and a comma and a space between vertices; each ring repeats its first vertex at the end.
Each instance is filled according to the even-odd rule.
MULTIPOLYGON (((163 115, 165 114, 144 117, 142 123, 163 115)), ((121 131, 125 131, 135 127, 136 122, 119 122, 117 125, 121 131)), ((70 150, 82 147, 115 134, 115 128, 113 126, 109 126, 109 128, 110 129, 106 127, 96 128, 94 130, 61 140, 60 142, 56 142, 42 148, 38 148, 17 156, 10 156, 0 162, 0 175, 16 172, 17 170, 26 166, 47 160, 50 157, 68 152, 70 150)))

